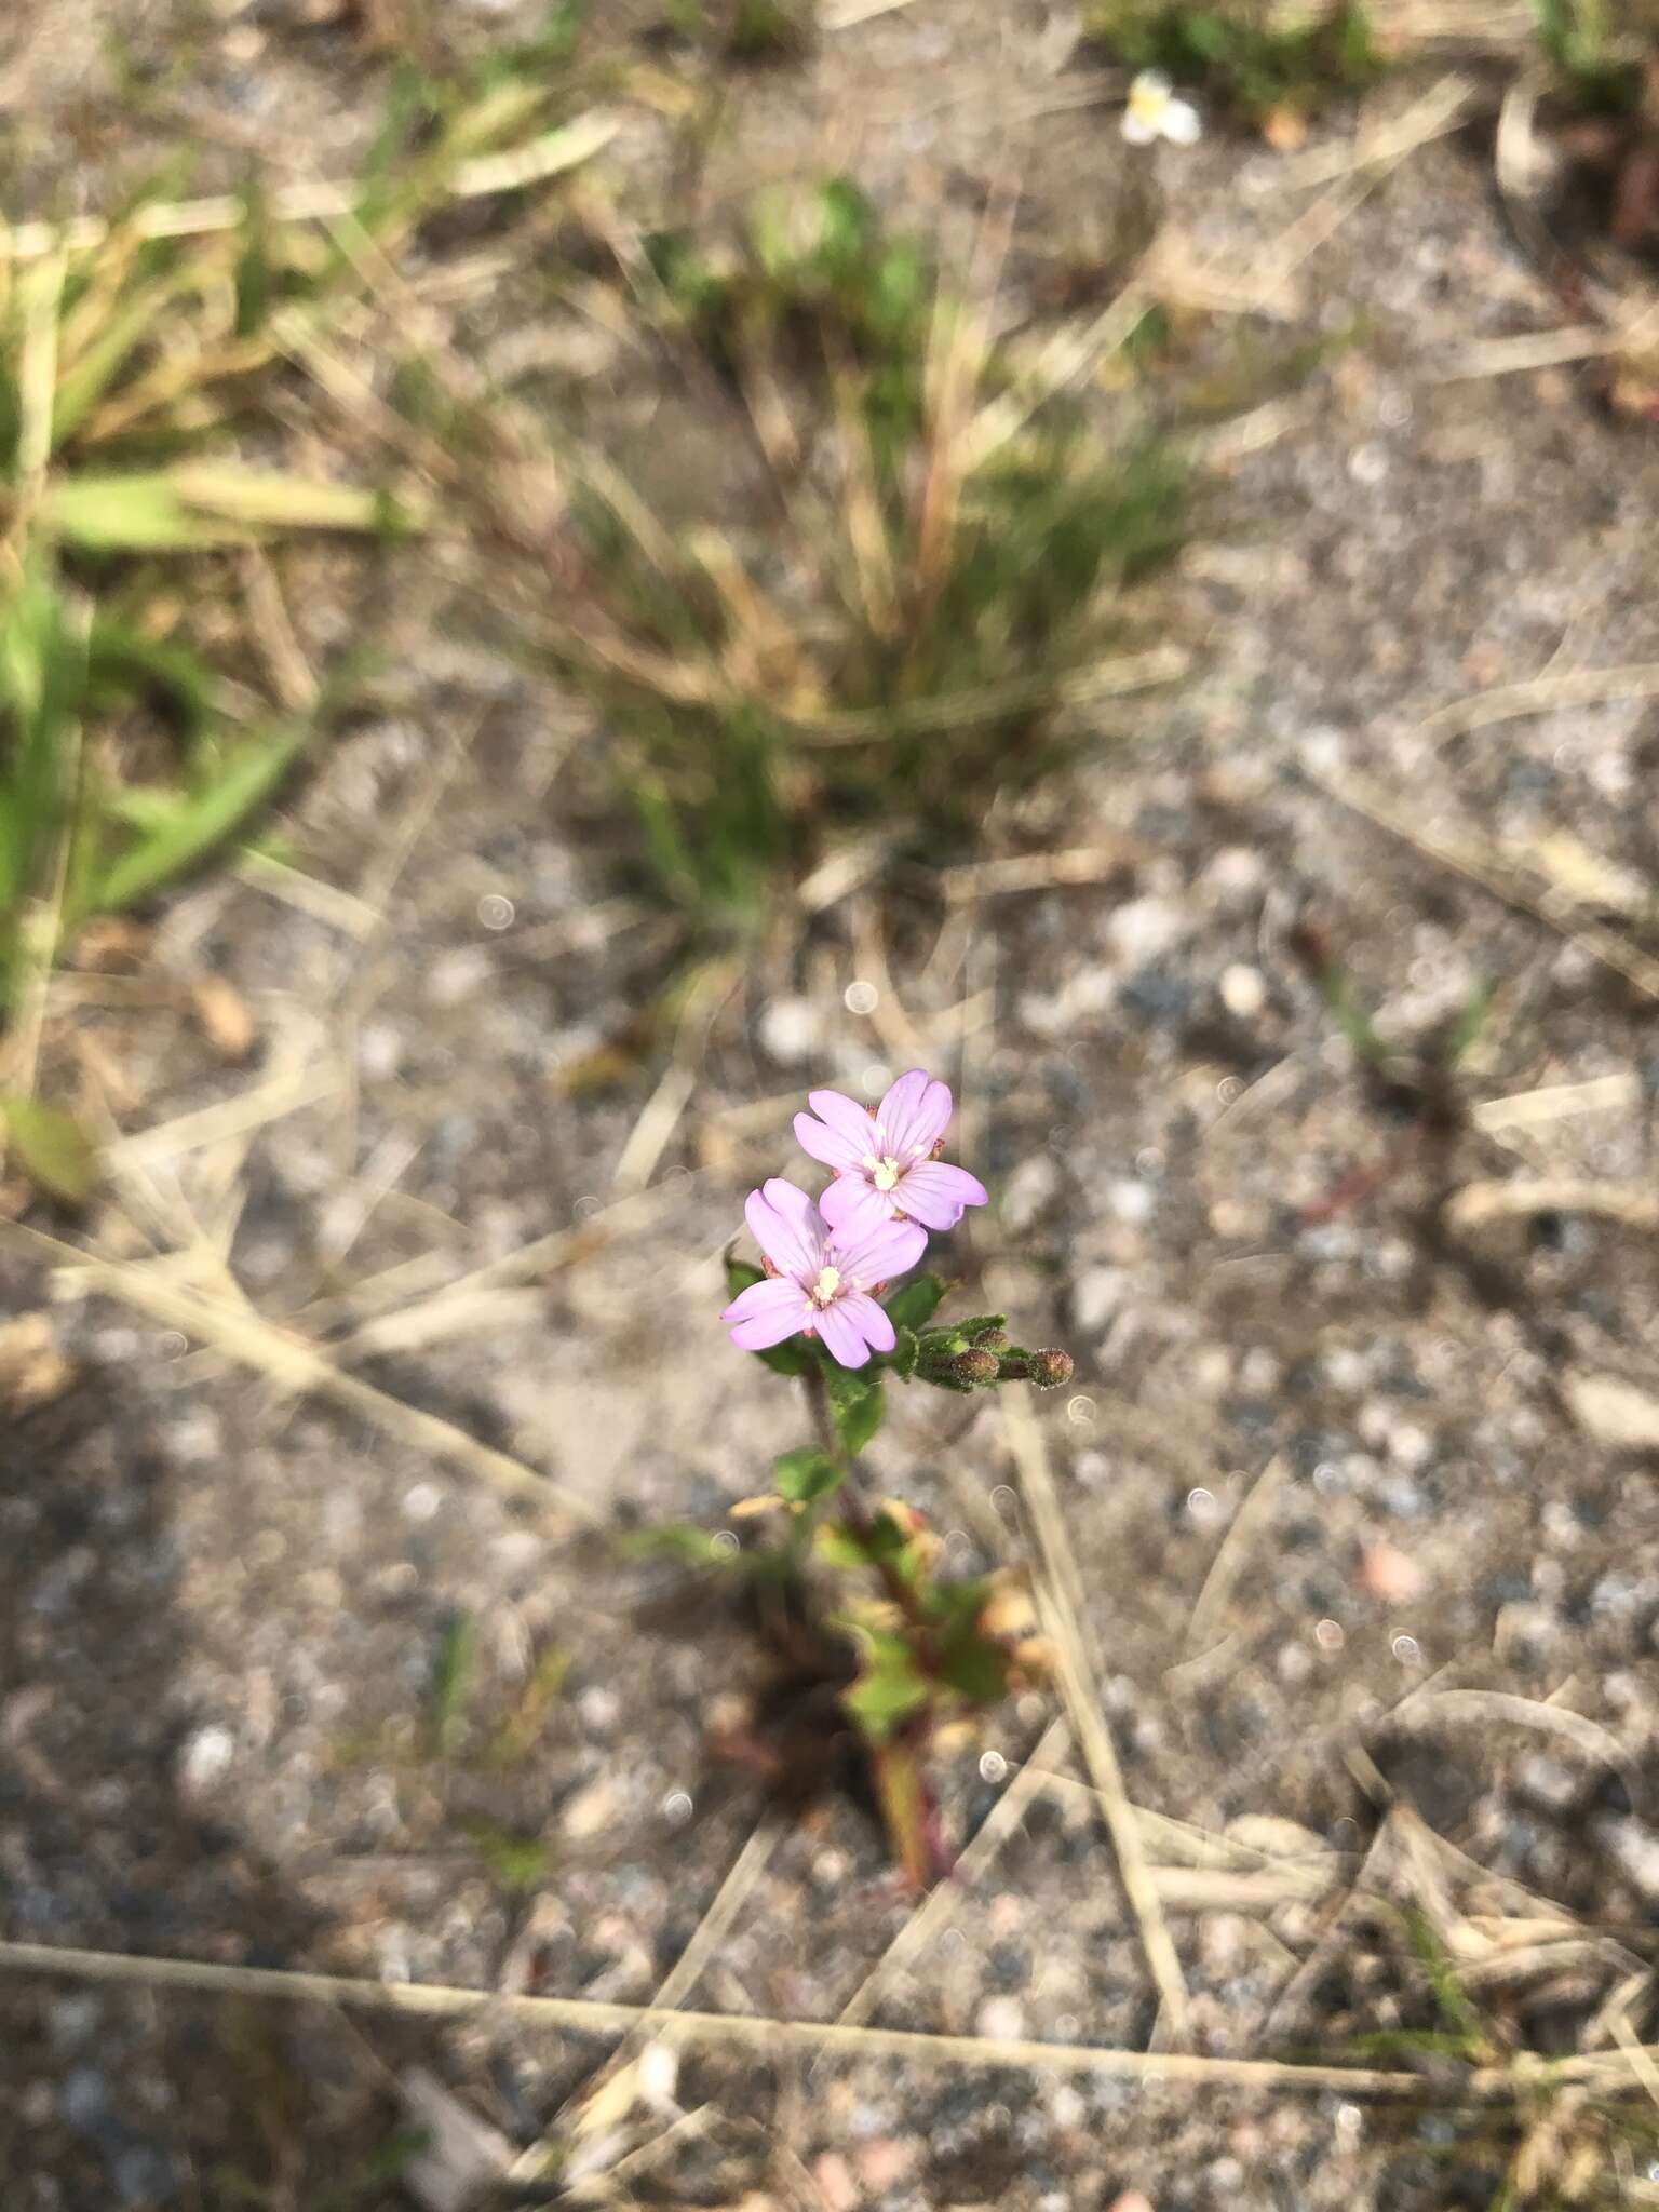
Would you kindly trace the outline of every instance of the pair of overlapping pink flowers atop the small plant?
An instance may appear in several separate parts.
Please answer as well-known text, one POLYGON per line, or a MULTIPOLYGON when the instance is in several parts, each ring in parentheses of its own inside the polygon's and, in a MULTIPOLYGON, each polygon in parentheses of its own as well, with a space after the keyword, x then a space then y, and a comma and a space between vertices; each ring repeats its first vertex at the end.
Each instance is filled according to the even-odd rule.
POLYGON ((940 1161, 951 1093, 925 1068, 900 1075, 874 1115, 838 1091, 812 1091, 807 1104, 794 1133, 832 1181, 816 1206, 781 1177, 750 1192, 743 1219, 765 1281, 739 1292, 721 1321, 739 1352, 818 1336, 841 1367, 863 1367, 896 1343, 880 1292, 916 1265, 929 1230, 953 1230, 987 1192, 940 1161))

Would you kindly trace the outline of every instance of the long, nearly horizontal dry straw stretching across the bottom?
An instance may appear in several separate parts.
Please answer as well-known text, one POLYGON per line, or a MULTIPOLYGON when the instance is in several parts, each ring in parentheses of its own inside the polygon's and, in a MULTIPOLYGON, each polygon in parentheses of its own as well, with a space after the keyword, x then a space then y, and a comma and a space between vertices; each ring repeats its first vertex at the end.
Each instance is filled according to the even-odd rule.
MULTIPOLYGON (((288 1973, 276 1966, 221 1966, 184 1958, 135 1958, 122 1951, 75 1951, 60 1944, 0 1942, 0 1973, 62 1975, 77 1982, 128 1982, 142 1989, 188 1989, 204 1995, 274 1997, 290 2004, 363 2006, 425 2020, 520 2020, 575 2035, 626 2035, 653 2020, 648 2004, 597 1997, 526 1997, 445 1982, 369 1982, 332 1973, 288 1973)), ((838 2020, 770 2020, 754 2013, 677 2013, 686 2042, 748 2051, 841 2055, 982 2070, 1020 2066, 1035 2075, 1115 2075, 1128 2081, 1192 2088, 1261 2088, 1294 2095, 1338 2090, 1345 2097, 1422 2097, 1420 2073, 1374 2066, 1285 2066, 1279 2059, 1210 2059, 1179 2051, 1117 2051, 1108 2044, 1040 2044, 1029 2037, 929 2035, 920 2028, 865 2028, 838 2020)), ((1575 2062, 1564 2062, 1575 2068, 1575 2062)), ((1628 2064, 1628 2062, 1626 2062, 1628 2064)), ((1604 2070, 1606 2057, 1577 2062, 1604 2070)), ((1577 2070, 1577 2068, 1575 2068, 1577 2070)), ((1509 2097, 1509 2068, 1473 2075, 1469 2095, 1509 2097)))

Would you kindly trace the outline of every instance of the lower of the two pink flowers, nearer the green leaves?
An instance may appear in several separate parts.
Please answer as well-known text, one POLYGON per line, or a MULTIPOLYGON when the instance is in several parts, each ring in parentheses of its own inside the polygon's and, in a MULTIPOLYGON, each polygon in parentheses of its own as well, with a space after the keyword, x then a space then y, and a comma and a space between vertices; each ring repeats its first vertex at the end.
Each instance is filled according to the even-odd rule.
POLYGON ((776 1274, 750 1283, 721 1314, 739 1352, 821 1336, 843 1367, 863 1367, 872 1352, 894 1349, 894 1325, 872 1290, 916 1265, 927 1230, 874 1212, 830 1228, 805 1190, 776 1177, 750 1190, 743 1219, 776 1274))

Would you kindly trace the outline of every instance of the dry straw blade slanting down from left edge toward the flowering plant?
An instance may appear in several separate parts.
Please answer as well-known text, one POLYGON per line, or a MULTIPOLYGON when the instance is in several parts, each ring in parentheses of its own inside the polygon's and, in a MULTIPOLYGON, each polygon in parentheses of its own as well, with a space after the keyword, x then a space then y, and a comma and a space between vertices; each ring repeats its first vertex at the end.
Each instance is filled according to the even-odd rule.
POLYGON ((279 1389, 330 1398, 334 1405, 343 1405, 361 1413, 385 1436, 478 1475, 509 1498, 522 1498, 542 1509, 555 1506, 568 1520, 584 1526, 602 1526, 604 1522, 604 1515, 586 1498, 566 1491, 551 1475, 538 1473, 533 1467, 509 1458, 504 1451, 495 1451, 491 1444, 480 1444, 476 1436, 469 1436, 453 1422, 405 1405, 403 1398, 376 1389, 361 1376, 343 1374, 305 1338, 279 1329, 246 1305, 208 1298, 201 1292, 166 1281, 153 1267, 102 1259, 97 1252, 82 1252, 20 1223, 0 1228, 0 1243, 24 1259, 66 1270, 71 1281, 119 1298, 124 1305, 148 1314, 166 1327, 181 1329, 197 1343, 210 1345, 215 1352, 223 1352, 257 1374, 268 1376, 279 1389))

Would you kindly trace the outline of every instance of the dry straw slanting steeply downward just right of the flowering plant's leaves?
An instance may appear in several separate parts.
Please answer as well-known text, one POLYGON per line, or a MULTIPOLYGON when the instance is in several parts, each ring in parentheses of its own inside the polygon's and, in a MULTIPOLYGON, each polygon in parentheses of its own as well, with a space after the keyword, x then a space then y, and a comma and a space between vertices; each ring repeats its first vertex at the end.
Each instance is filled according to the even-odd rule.
POLYGON ((1071 1728, 1077 1739, 1077 1747, 1082 1750, 1088 1778, 1099 1792, 1106 1832, 1113 1840, 1117 1869, 1124 1880, 1124 1896, 1128 1898, 1128 1907, 1139 1922, 1141 1949, 1146 1951, 1146 1964, 1152 1973, 1152 1982, 1157 1984, 1161 2024, 1168 2028, 1172 2039, 1183 2042, 1188 2015, 1181 1960, 1175 1953, 1175 1942, 1170 1940, 1170 1929, 1164 1920, 1164 1907, 1159 1905, 1157 1889, 1152 1887, 1141 1832, 1124 1790, 1124 1772, 1117 1763, 1117 1747, 1113 1745, 1106 1721, 1102 1719, 1099 1692, 1091 1679, 1088 1655, 1084 1652, 1082 1630, 1077 1626, 1082 1579, 1077 1575, 1077 1559, 1066 1535, 1060 1500, 1055 1498, 1048 1449, 1042 1440, 1042 1429, 1037 1429, 1037 1422, 1031 1418, 1031 1407, 1018 1391, 1004 1394, 1002 1420, 1013 1462, 1020 1471, 1020 1489, 1031 1511, 1031 1524, 1037 1533, 1037 1546, 1042 1553, 1042 1573, 1037 1577, 1037 1617, 1044 1635, 1048 1635, 1060 1655, 1060 1692, 1066 1701, 1066 1712, 1071 1717, 1071 1728))

